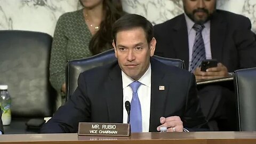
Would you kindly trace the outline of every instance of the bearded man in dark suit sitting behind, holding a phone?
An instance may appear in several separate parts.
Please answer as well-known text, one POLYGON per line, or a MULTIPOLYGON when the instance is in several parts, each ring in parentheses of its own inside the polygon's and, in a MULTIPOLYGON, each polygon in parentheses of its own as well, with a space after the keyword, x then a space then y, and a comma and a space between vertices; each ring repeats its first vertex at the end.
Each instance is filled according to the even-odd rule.
MULTIPOLYGON (((182 2, 185 14, 154 26, 156 55, 184 60, 196 81, 227 77, 236 69, 256 66, 256 43, 248 18, 216 10, 215 0, 182 2), (200 33, 194 28, 198 25, 203 28, 200 33), (203 44, 198 44, 201 42, 199 37, 203 38, 203 44), (196 49, 202 46, 202 51, 196 49), (196 53, 204 53, 204 58, 196 53), (197 57, 200 58, 194 62, 197 57), (203 59, 216 59, 218 66, 201 71, 199 66, 203 59)), ((227 125, 232 124, 227 129, 235 130, 233 92, 221 86, 206 86, 199 89, 198 94, 202 111, 209 121, 227 122, 227 125)), ((212 130, 219 128, 222 129, 213 127, 212 130)))

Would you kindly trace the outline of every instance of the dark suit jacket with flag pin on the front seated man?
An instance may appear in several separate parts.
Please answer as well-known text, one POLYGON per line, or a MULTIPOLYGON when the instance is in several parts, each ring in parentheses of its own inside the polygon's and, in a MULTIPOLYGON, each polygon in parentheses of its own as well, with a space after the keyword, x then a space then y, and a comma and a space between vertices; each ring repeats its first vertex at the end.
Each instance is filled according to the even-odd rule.
MULTIPOLYGON (((187 70, 151 63, 149 131, 155 132, 161 116, 180 116, 184 127, 207 127, 199 108, 195 77, 187 70), (165 90, 159 91, 164 85, 165 90)), ((60 107, 41 133, 75 133, 78 122, 123 123, 122 74, 117 61, 84 71, 71 99, 60 107)))

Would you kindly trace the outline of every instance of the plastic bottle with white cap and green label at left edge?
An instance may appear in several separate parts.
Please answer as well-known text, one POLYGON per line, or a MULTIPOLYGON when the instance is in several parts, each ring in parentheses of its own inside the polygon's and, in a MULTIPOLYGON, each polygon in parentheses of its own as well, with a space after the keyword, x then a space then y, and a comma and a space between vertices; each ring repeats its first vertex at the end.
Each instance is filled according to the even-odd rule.
POLYGON ((3 125, 10 125, 11 123, 11 97, 7 91, 7 85, 0 85, 0 106, 2 111, 3 125))

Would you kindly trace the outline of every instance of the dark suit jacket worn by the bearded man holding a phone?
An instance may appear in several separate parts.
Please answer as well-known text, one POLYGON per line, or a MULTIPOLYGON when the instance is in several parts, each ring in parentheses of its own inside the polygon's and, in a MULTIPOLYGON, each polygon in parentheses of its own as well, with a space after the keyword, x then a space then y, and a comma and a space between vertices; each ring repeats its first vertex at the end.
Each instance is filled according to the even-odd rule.
MULTIPOLYGON (((178 58, 189 65, 188 31, 185 15, 154 26, 155 54, 178 58)), ((212 59, 217 59, 233 72, 240 68, 256 67, 256 43, 248 18, 217 10, 211 19, 210 30, 212 59)))

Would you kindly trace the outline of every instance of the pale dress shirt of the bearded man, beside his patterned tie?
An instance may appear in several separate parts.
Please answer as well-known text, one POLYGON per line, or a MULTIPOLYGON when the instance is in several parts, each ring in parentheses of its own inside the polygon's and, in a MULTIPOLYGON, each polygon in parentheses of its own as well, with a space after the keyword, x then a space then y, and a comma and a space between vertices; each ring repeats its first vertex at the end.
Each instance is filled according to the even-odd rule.
MULTIPOLYGON (((195 24, 188 16, 185 14, 185 19, 188 28, 188 46, 189 46, 189 68, 192 61, 192 53, 193 53, 193 45, 196 37, 196 30, 193 29, 195 24)), ((204 40, 204 48, 205 48, 205 57, 206 59, 212 59, 212 52, 211 52, 211 41, 210 41, 210 20, 204 23, 204 29, 202 30, 202 36, 204 40)))

